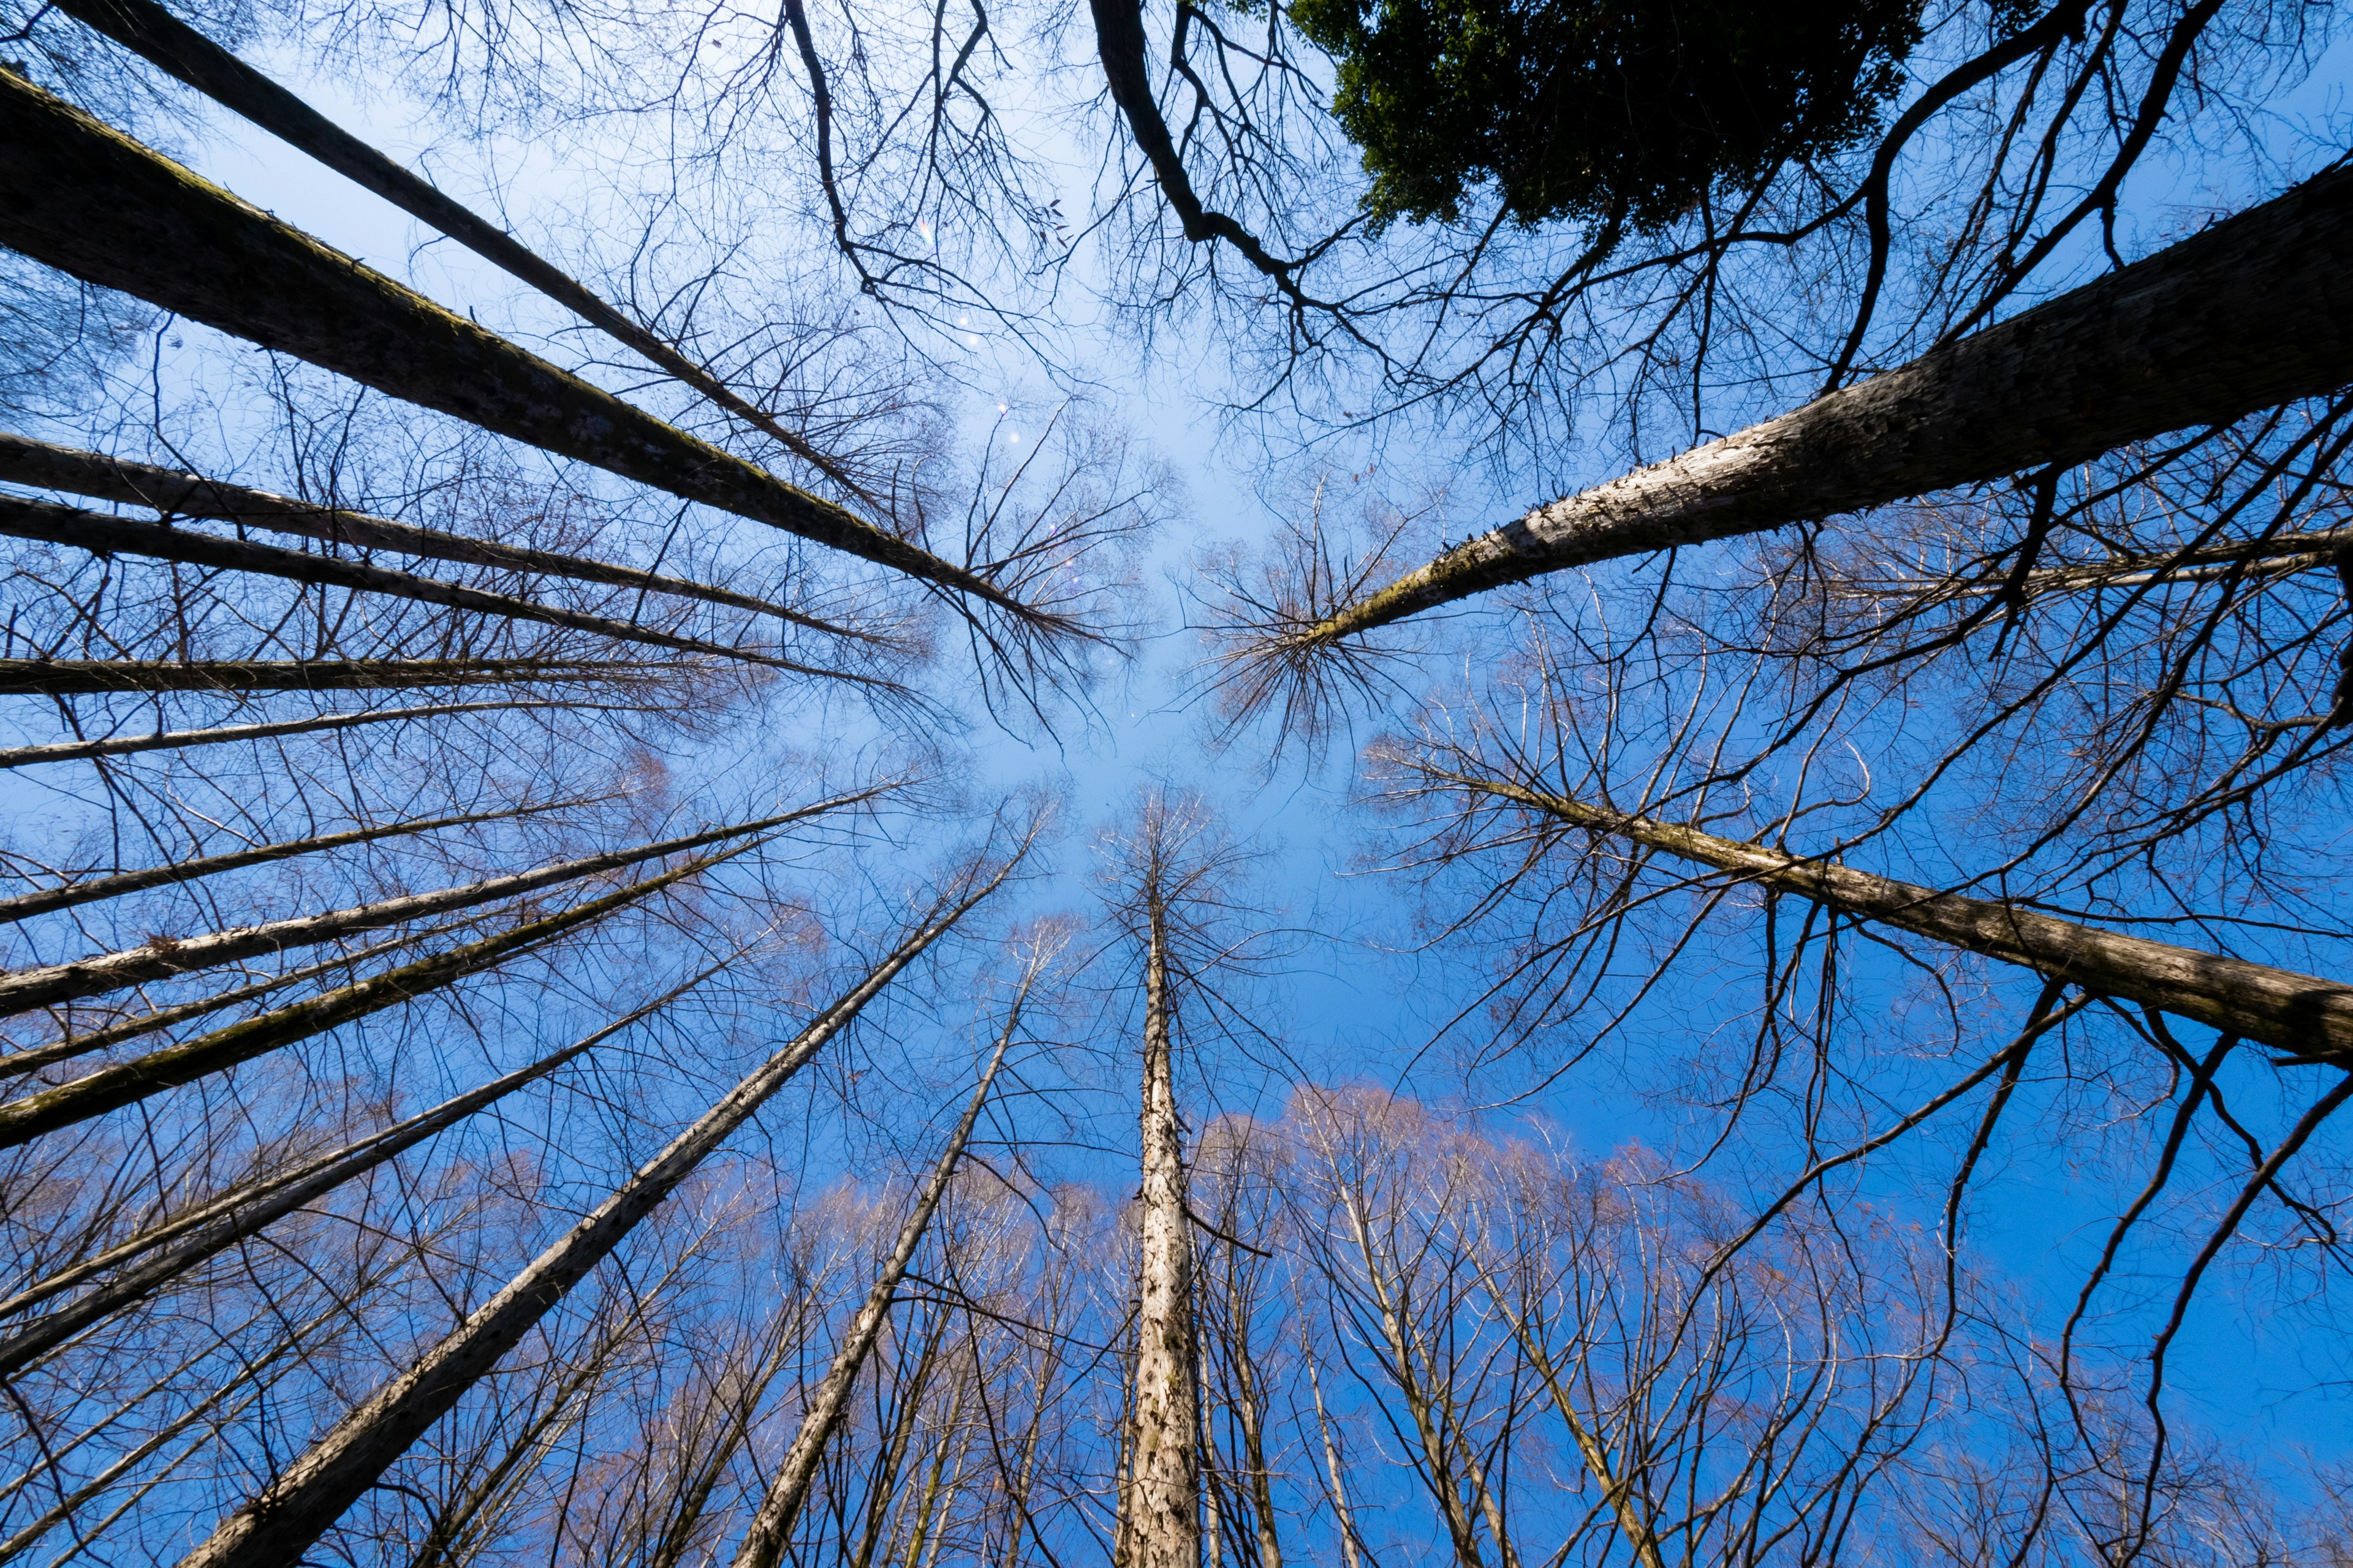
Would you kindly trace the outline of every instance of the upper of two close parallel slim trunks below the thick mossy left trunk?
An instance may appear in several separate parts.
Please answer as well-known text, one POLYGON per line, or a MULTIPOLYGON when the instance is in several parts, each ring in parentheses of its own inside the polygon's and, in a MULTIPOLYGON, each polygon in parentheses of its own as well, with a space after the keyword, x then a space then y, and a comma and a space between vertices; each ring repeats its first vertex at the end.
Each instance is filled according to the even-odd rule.
POLYGON ((125 505, 146 505, 174 517, 212 517, 268 534, 322 538, 355 550, 398 550, 400 555, 461 562, 466 567, 496 567, 579 583, 640 588, 673 599, 704 599, 708 604, 727 604, 729 609, 748 609, 793 625, 833 632, 835 637, 871 639, 866 632, 805 616, 798 609, 758 599, 734 588, 640 571, 638 567, 565 555, 560 550, 529 550, 496 538, 421 529, 409 522, 393 522, 391 517, 369 517, 367 512, 275 496, 266 489, 247 489, 226 480, 207 480, 179 468, 132 463, 129 458, 111 458, 101 451, 80 451, 75 447, 52 447, 49 442, 35 442, 28 435, 12 435, 7 430, 0 430, 0 480, 35 489, 64 489, 75 496, 120 501, 125 505))

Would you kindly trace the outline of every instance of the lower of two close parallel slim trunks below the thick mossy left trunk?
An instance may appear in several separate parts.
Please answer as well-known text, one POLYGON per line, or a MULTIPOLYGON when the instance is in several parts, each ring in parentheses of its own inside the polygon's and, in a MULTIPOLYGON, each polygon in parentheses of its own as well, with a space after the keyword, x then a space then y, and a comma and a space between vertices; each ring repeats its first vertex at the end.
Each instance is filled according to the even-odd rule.
POLYGON ((214 534, 174 529, 162 522, 141 522, 136 517, 115 517, 111 512, 52 505, 49 501, 19 501, 14 496, 0 496, 0 536, 38 538, 42 543, 89 550, 94 555, 144 555, 160 562, 209 567, 214 571, 273 576, 287 583, 379 592, 391 599, 442 604, 447 609, 464 609, 499 621, 525 621, 534 625, 555 625, 569 632, 588 632, 593 637, 612 637, 614 642, 640 642, 652 649, 671 649, 673 654, 734 658, 751 665, 767 665, 772 670, 791 670, 795 675, 824 675, 831 679, 873 684, 873 677, 868 675, 821 670, 793 658, 755 654, 753 649, 706 642, 701 637, 675 637, 647 625, 614 621, 612 616, 591 616, 576 609, 541 604, 539 599, 522 599, 508 592, 487 592, 482 588, 466 588, 464 583, 442 583, 438 578, 416 576, 414 571, 369 567, 367 562, 353 562, 339 555, 313 555, 306 550, 256 545, 242 538, 219 538, 214 534))

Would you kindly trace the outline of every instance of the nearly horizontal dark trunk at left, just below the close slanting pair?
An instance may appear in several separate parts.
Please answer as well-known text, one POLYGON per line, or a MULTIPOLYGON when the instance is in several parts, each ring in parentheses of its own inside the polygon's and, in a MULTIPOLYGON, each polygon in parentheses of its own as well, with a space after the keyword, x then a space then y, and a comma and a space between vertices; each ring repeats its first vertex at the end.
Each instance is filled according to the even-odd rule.
MULTIPOLYGON (((0 78, 5 75, 0 71, 0 78)), ((649 677, 687 668, 694 665, 649 665, 631 658, 0 658, 0 696, 645 684, 649 677)))

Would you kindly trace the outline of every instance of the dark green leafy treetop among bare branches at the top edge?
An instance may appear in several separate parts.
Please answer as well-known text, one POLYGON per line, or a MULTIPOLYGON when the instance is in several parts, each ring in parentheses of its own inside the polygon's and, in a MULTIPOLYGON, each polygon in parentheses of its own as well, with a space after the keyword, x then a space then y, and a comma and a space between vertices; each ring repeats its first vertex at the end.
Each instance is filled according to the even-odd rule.
POLYGON ((1494 181, 1522 226, 1645 230, 1878 129, 1920 0, 1294 0, 1292 21, 1339 61, 1377 228, 1452 223, 1494 181))

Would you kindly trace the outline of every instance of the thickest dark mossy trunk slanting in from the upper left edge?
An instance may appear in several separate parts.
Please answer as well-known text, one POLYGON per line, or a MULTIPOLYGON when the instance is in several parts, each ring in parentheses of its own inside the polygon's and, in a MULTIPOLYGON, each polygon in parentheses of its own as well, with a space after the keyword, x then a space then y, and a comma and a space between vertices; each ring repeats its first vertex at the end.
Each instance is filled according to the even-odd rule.
POLYGON ((548 364, 0 73, 0 242, 532 447, 1047 625, 986 578, 548 364))

